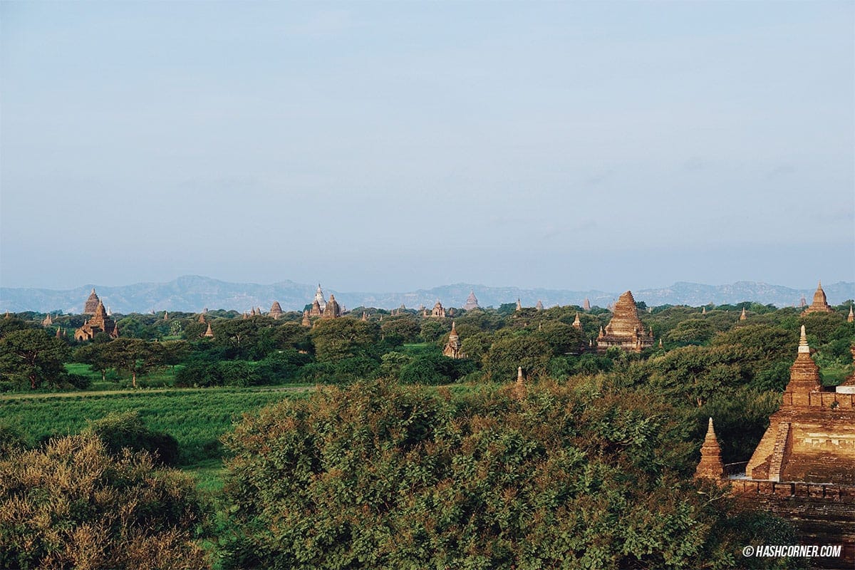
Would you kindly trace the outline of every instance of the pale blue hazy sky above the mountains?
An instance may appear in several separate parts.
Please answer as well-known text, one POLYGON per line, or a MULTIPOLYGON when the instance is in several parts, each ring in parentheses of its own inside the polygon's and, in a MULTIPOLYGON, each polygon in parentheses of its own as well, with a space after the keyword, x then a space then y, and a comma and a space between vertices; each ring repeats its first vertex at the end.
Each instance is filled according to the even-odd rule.
POLYGON ((0 2, 0 285, 855 280, 852 2, 0 2))

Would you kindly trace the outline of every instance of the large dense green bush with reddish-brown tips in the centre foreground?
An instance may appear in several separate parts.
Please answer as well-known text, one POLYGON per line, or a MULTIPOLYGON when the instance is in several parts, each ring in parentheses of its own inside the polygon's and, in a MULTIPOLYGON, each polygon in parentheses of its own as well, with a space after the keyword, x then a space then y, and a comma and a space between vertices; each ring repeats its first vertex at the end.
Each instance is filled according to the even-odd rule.
POLYGON ((360 383, 245 417, 226 567, 762 567, 742 546, 794 540, 675 476, 687 427, 667 408, 595 384, 512 394, 360 383))

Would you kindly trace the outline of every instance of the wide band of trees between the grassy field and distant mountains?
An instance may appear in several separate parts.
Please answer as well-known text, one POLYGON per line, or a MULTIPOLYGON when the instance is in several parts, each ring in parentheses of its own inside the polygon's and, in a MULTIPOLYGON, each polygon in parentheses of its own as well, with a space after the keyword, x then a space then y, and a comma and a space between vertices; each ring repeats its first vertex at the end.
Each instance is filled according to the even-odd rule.
MULTIPOLYGON (((612 371, 630 379, 652 375, 664 390, 682 391, 682 397, 702 406, 722 382, 780 390, 788 351, 803 323, 828 384, 842 379, 852 360, 853 327, 846 323, 846 304, 835 314, 806 316, 797 309, 756 303, 709 308, 705 314, 669 306, 647 312, 639 304, 641 320, 662 341, 641 355, 616 349, 597 353, 597 334, 611 318, 605 309, 516 311, 509 305, 457 311, 453 320, 465 356, 458 360, 442 356, 452 319, 423 318, 415 311, 365 309, 368 320, 345 316, 315 320, 310 327, 301 325, 298 313, 274 320, 212 312, 206 319, 213 338, 203 337, 208 322, 200 322, 198 315, 129 315, 118 320, 120 338, 99 334, 86 343, 51 334, 62 327, 59 321, 74 317, 57 317, 55 325, 43 328, 38 315, 21 314, 0 319, 0 391, 87 387, 91 377, 63 366, 73 362, 89 365, 103 381, 127 379, 134 387, 146 374, 164 370, 176 386, 203 387, 346 384, 372 378, 431 385, 504 381, 522 367, 528 377, 553 379, 612 371), (746 320, 739 320, 741 309, 747 310, 746 320), (573 326, 576 314, 579 328, 573 326), (671 356, 662 359, 666 354, 671 356), (647 364, 630 366, 634 361, 647 364)), ((363 308, 352 313, 361 314, 363 308)))

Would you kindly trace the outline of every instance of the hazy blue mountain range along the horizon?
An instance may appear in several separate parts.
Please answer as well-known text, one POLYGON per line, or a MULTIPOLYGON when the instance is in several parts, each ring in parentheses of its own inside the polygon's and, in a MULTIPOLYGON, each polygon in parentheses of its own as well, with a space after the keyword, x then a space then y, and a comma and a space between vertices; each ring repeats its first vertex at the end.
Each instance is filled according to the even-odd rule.
MULTIPOLYGON (((186 275, 168 283, 137 283, 119 287, 83 285, 67 291, 50 289, 0 287, 0 311, 62 310, 63 313, 80 313, 92 288, 105 306, 115 313, 147 313, 151 310, 198 312, 203 308, 235 309, 249 311, 261 307, 268 311, 274 301, 283 310, 303 310, 315 296, 314 285, 293 281, 280 281, 272 285, 254 283, 228 283, 198 275, 186 275)), ((855 298, 855 283, 841 281, 823 285, 828 303, 840 304, 855 298)), ((534 307, 539 300, 545 307, 553 305, 581 305, 587 298, 591 305, 605 307, 614 303, 622 291, 566 291, 557 289, 521 289, 518 287, 488 287, 457 283, 433 289, 420 289, 405 293, 365 293, 324 290, 347 308, 358 306, 394 309, 404 306, 414 309, 420 305, 431 308, 437 301, 445 307, 463 307, 469 291, 475 291, 481 307, 498 307, 502 303, 522 300, 524 307, 534 307)), ((655 307, 663 304, 699 307, 707 303, 716 305, 754 301, 774 304, 777 307, 798 305, 801 297, 811 303, 815 289, 792 289, 782 285, 769 285, 753 281, 739 281, 730 285, 700 285, 675 283, 659 289, 633 291, 636 301, 655 307)))

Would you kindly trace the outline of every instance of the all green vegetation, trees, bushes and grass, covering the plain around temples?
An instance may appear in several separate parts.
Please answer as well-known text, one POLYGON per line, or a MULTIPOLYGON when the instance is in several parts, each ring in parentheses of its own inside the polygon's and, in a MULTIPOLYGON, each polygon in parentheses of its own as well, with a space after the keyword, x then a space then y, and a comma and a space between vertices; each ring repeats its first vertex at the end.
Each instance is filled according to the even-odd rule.
POLYGON ((214 338, 198 315, 132 314, 121 338, 88 343, 56 335, 80 315, 48 328, 9 316, 0 567, 789 564, 737 547, 792 543, 790 526, 691 475, 708 417, 723 460, 749 458, 799 325, 825 384, 853 373, 846 312, 656 307, 640 318, 660 346, 596 353, 609 311, 509 303, 456 311, 462 359, 442 356, 451 320, 414 311, 312 327, 299 313, 213 311, 214 338), (517 367, 524 397, 510 388, 517 367), (196 491, 168 465, 196 473, 196 491), (66 504, 57 485, 86 498, 66 504), (93 532, 113 538, 93 545, 93 532))

